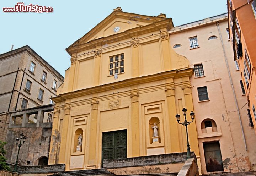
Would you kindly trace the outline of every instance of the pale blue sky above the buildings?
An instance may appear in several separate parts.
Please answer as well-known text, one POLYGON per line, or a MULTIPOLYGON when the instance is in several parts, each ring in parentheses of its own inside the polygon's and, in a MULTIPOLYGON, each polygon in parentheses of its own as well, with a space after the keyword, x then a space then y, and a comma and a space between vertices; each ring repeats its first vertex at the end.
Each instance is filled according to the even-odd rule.
POLYGON ((0 2, 0 54, 29 45, 60 74, 70 67, 65 51, 113 9, 157 16, 165 13, 174 26, 202 20, 227 12, 226 0, 8 0, 0 2), (24 5, 52 7, 52 13, 5 13, 3 7, 24 5))

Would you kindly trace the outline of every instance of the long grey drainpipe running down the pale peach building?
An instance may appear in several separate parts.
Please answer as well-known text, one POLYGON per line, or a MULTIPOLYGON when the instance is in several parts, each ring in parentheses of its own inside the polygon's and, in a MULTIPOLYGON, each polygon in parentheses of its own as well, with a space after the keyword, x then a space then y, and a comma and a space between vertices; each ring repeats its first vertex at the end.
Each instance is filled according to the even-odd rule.
POLYGON ((242 127, 241 115, 240 115, 240 111, 239 111, 239 108, 238 108, 238 103, 237 103, 237 99, 236 99, 236 94, 235 94, 235 89, 234 89, 233 81, 232 81, 232 78, 231 78, 231 75, 230 75, 230 70, 229 70, 229 66, 228 66, 228 60, 226 58, 226 53, 225 53, 225 49, 224 49, 222 35, 221 35, 220 29, 219 29, 219 22, 217 22, 216 25, 218 27, 218 31, 219 31, 219 35, 220 35, 220 41, 222 43, 222 49, 223 49, 223 53, 224 53, 224 57, 225 57, 226 67, 228 69, 229 81, 231 83, 231 87, 232 87, 232 90, 233 90, 233 95, 234 95, 234 98, 235 98, 236 111, 238 112, 240 126, 241 126, 241 129, 242 129, 242 136, 243 136, 243 139, 244 139, 245 150, 247 150, 247 146, 246 146, 246 142, 245 142, 245 136, 244 136, 244 128, 242 127))

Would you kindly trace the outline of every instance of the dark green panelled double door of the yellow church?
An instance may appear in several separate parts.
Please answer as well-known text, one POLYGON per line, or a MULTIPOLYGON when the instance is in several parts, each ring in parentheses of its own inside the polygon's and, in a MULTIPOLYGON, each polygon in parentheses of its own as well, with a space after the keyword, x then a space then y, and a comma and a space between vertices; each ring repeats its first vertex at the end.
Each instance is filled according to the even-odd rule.
POLYGON ((102 133, 102 160, 127 158, 127 131, 118 130, 102 133))

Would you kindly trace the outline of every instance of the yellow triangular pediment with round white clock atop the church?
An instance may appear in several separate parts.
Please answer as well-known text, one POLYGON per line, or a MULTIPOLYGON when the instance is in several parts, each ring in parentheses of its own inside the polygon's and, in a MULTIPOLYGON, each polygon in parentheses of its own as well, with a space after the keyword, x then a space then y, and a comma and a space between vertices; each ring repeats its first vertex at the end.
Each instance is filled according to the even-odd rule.
MULTIPOLYGON (((146 26, 158 21, 165 20, 165 15, 146 16, 134 13, 123 12, 120 7, 108 15, 103 21, 98 23, 83 37, 73 43, 71 46, 90 42, 91 40, 108 37, 110 35, 122 33, 128 29, 133 29, 140 26, 146 26)), ((69 46, 69 47, 71 47, 69 46)))

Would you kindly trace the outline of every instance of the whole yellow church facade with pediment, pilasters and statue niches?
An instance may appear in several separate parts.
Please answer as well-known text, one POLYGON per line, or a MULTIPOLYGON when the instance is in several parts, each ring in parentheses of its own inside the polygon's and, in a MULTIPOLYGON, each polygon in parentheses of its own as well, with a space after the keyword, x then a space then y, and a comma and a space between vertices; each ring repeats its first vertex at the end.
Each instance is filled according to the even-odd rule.
MULTIPOLYGON (((52 98, 49 164, 94 169, 103 159, 187 151, 186 129, 175 115, 183 121, 183 107, 194 111, 193 68, 170 46, 172 27, 164 14, 118 7, 66 49, 71 66, 52 98)), ((200 166, 195 122, 188 134, 200 166)))

